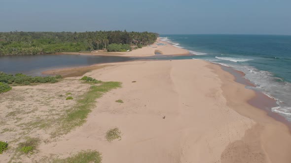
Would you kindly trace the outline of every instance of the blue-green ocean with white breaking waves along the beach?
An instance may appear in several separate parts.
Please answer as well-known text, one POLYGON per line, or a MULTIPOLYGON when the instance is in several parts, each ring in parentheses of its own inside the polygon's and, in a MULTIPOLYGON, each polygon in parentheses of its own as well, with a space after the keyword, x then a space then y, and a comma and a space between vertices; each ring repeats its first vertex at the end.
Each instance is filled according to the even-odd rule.
POLYGON ((291 36, 287 35, 160 35, 194 56, 172 59, 203 59, 232 67, 260 91, 277 101, 271 108, 291 122, 291 36))

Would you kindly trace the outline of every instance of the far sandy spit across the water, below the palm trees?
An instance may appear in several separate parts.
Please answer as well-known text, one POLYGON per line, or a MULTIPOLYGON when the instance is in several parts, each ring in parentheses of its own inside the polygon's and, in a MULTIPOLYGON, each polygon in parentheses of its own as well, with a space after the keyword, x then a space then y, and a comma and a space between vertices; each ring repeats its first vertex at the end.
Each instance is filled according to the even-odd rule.
POLYGON ((164 54, 164 55, 187 55, 190 54, 189 51, 178 48, 170 44, 169 42, 162 41, 160 37, 157 38, 157 41, 152 44, 148 45, 146 47, 143 47, 141 49, 132 50, 130 52, 115 52, 115 53, 109 53, 109 52, 63 52, 58 54, 79 54, 79 55, 114 55, 114 56, 128 56, 128 57, 145 57, 145 56, 153 56, 156 54, 164 54))

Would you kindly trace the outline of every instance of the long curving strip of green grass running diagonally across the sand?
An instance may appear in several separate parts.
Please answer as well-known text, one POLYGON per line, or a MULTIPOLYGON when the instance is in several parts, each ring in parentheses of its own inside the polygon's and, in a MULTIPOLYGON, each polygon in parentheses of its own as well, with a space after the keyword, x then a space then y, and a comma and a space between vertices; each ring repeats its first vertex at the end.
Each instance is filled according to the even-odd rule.
POLYGON ((92 85, 89 91, 77 100, 73 109, 68 110, 68 113, 60 118, 60 127, 52 133, 52 137, 67 134, 77 126, 84 124, 91 109, 95 107, 96 99, 118 87, 121 87, 121 82, 108 81, 92 85))

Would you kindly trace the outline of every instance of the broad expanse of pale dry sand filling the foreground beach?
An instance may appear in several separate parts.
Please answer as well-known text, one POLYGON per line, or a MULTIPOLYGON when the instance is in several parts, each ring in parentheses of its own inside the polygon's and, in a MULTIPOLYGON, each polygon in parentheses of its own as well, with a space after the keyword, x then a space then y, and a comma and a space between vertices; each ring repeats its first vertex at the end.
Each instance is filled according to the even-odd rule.
MULTIPOLYGON (((110 65, 85 75, 121 81, 122 88, 98 99, 83 126, 42 143, 32 158, 94 149, 102 153, 102 163, 291 162, 288 127, 248 104, 255 92, 218 65, 194 59, 110 65), (105 133, 114 127, 121 140, 108 142, 105 133)), ((9 93, 13 96, 6 92, 0 98, 9 93)))

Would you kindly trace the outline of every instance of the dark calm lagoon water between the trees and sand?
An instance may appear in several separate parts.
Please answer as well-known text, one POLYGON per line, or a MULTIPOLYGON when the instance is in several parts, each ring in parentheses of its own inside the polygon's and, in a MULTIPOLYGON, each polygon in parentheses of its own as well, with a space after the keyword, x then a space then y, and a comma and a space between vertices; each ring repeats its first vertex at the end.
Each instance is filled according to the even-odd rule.
POLYGON ((39 76, 42 71, 55 68, 88 66, 97 63, 111 63, 134 60, 135 58, 121 56, 92 55, 7 55, 0 56, 0 71, 8 74, 24 73, 39 76))

